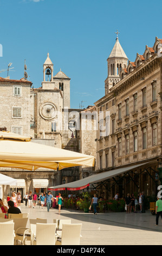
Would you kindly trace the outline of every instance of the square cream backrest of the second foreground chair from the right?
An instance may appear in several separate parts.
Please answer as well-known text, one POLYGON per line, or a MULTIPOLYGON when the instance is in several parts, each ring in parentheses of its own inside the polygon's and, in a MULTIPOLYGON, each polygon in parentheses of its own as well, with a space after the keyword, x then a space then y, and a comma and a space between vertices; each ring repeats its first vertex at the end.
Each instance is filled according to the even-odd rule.
POLYGON ((36 245, 55 245, 55 223, 36 224, 36 245))

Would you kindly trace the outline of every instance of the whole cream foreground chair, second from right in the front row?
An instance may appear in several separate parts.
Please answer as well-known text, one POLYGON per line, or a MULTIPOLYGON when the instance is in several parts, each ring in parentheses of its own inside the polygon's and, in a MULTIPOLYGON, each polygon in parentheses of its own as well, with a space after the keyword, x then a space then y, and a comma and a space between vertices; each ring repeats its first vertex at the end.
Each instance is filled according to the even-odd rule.
POLYGON ((56 224, 36 223, 30 225, 32 241, 31 245, 55 245, 56 224), (36 230, 34 230, 36 228, 36 230))

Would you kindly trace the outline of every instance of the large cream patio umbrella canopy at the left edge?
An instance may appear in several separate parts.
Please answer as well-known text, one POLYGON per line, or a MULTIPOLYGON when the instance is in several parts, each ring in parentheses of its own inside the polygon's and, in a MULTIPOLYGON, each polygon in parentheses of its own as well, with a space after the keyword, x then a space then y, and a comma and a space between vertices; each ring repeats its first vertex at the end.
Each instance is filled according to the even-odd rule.
POLYGON ((0 167, 61 170, 73 166, 93 167, 95 157, 31 142, 30 137, 0 132, 0 167))

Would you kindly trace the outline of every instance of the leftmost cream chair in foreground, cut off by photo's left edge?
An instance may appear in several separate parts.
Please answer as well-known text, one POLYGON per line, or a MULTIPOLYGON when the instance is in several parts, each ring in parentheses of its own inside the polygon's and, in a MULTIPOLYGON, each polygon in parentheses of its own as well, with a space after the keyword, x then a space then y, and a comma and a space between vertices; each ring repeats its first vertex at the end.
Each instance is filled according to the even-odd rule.
POLYGON ((14 222, 0 223, 0 245, 14 245, 14 222))

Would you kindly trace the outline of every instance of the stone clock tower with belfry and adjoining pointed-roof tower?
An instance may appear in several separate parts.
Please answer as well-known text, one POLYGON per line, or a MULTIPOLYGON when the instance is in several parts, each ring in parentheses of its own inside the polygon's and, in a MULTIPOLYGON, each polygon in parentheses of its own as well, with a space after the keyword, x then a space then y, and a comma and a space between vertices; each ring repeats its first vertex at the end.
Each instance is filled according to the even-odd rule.
POLYGON ((43 64, 42 87, 33 90, 35 106, 35 138, 50 139, 62 148, 64 108, 70 108, 70 78, 61 70, 54 76, 49 58, 43 64))

